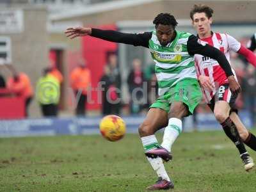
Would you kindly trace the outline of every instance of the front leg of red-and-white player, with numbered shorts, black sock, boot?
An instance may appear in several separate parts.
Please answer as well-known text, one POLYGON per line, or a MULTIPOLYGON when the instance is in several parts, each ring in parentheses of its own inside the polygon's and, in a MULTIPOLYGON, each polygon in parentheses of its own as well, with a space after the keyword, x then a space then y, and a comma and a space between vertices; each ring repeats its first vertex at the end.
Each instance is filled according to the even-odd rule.
MULTIPOLYGON (((225 134, 230 138, 230 140, 236 145, 239 150, 239 154, 244 163, 244 169, 246 171, 250 170, 253 166, 253 160, 248 154, 246 148, 244 147, 243 141, 241 140, 237 127, 229 117, 230 106, 234 106, 237 95, 230 92, 228 84, 221 85, 218 92, 216 93, 216 102, 214 103, 214 115, 216 120, 220 122, 225 134), (251 161, 252 160, 252 161, 251 161)), ((234 107, 232 107, 234 108, 234 107)))

